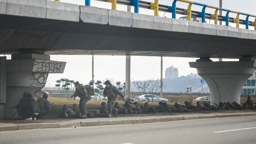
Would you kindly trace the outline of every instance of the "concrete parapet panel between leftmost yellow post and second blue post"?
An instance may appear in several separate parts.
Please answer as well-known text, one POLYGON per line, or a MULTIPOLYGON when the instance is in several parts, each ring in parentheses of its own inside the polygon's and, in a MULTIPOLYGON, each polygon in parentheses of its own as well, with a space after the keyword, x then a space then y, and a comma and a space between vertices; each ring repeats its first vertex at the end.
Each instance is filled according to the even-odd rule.
POLYGON ((132 27, 132 13, 126 11, 108 10, 108 24, 122 27, 132 27))

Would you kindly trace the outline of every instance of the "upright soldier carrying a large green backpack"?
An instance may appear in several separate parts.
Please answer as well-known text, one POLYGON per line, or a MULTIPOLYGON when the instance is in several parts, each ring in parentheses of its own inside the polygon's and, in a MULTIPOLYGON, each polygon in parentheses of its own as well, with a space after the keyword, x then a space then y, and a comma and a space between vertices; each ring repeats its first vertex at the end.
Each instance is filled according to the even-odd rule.
POLYGON ((78 81, 75 82, 76 91, 74 97, 78 96, 80 98, 79 101, 79 110, 82 114, 81 119, 87 119, 87 115, 85 112, 85 104, 91 99, 91 96, 88 95, 83 84, 80 84, 78 81))

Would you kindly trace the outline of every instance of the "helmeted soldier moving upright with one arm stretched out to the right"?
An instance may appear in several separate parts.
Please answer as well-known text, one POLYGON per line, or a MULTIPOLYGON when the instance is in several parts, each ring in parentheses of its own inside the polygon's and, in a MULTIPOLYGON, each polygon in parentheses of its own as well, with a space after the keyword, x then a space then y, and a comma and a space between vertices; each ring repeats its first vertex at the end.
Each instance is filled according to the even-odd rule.
POLYGON ((115 103, 116 101, 116 96, 120 95, 120 97, 124 98, 124 95, 116 88, 116 86, 111 85, 109 80, 105 81, 105 89, 103 91, 103 96, 104 98, 107 97, 108 98, 108 112, 109 115, 111 116, 112 114, 112 105, 115 103))

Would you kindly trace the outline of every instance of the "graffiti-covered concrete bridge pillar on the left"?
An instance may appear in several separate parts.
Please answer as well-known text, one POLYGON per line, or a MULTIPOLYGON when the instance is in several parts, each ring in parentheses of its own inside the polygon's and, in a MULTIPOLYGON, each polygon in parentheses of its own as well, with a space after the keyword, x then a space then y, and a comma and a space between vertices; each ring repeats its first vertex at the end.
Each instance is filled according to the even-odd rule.
POLYGON ((35 95, 46 83, 49 73, 63 73, 66 62, 51 61, 49 55, 35 53, 12 54, 6 60, 6 103, 4 119, 16 119, 12 115, 16 109, 9 109, 18 104, 23 93, 35 95))

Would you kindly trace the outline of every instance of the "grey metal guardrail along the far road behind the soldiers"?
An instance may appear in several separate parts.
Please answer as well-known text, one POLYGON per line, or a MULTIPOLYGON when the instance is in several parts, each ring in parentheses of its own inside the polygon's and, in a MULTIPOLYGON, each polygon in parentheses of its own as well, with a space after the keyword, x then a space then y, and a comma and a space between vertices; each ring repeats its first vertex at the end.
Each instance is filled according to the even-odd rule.
MULTIPOLYGON (((44 90, 48 92, 49 94, 59 94, 59 91, 51 91, 51 90, 44 90)), ((75 91, 71 91, 71 93, 75 93, 75 91)), ((138 97, 144 93, 142 92, 131 92, 130 97, 138 97)), ((155 93, 155 95, 160 96, 160 93, 155 93)), ((163 93, 164 97, 211 97, 210 93, 163 93)), ((247 96, 256 97, 256 95, 241 95, 241 98, 247 98, 247 96)))

